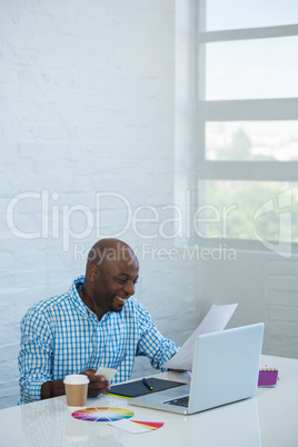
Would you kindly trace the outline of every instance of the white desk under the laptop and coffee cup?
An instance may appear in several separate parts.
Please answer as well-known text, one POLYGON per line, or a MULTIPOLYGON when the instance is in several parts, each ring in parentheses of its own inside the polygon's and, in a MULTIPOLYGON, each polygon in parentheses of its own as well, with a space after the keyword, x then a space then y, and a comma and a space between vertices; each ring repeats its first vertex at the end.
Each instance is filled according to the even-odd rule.
MULTIPOLYGON (((262 364, 279 369, 280 380, 276 388, 258 388, 255 398, 192 416, 132 407, 129 399, 112 396, 88 399, 88 407, 129 408, 135 413, 135 419, 165 421, 162 428, 145 434, 131 435, 107 423, 74 419, 67 409, 64 396, 2 409, 0 445, 297 447, 298 360, 262 356, 262 364)), ((167 372, 162 377, 188 381, 190 375, 167 372)))

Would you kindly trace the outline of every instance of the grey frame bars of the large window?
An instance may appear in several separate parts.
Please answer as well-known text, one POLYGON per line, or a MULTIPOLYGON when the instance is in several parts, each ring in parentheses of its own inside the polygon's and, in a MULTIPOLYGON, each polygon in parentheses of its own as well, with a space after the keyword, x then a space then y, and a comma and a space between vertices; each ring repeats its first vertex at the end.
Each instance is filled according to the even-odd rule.
MULTIPOLYGON (((198 0, 196 8, 196 79, 197 79, 197 157, 198 185, 203 180, 298 181, 298 161, 234 161, 206 159, 206 122, 298 120, 298 98, 206 100, 206 46, 213 42, 270 39, 298 36, 298 24, 246 29, 206 30, 208 0, 198 0)), ((199 195, 198 195, 199 203, 199 195)), ((242 250, 268 252, 254 239, 220 238, 203 240, 202 246, 225 244, 242 250)), ((292 244, 292 252, 298 252, 292 244)))

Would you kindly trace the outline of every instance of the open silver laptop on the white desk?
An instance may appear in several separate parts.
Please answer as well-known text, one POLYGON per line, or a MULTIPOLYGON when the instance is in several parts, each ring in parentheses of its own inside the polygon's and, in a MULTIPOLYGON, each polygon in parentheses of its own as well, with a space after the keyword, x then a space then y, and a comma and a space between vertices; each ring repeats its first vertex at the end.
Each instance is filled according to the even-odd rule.
POLYGON ((147 394, 130 405, 191 415, 257 393, 264 322, 199 335, 196 339, 191 381, 147 394))

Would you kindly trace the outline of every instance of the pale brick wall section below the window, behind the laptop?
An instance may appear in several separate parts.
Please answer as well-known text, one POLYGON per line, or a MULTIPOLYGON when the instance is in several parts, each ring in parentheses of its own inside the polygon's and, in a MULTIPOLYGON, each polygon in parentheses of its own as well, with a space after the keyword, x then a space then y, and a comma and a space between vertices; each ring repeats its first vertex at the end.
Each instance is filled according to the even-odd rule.
POLYGON ((237 261, 199 268, 203 312, 211 304, 239 302, 231 326, 264 321, 264 354, 298 358, 297 258, 238 252, 237 261))

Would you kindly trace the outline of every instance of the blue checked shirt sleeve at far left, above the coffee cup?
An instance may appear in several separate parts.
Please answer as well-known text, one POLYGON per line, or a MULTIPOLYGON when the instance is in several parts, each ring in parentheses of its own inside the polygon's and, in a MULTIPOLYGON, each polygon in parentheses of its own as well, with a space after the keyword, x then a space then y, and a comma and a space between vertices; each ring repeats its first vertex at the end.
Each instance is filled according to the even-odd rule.
POLYGON ((19 352, 20 404, 40 400, 40 389, 51 380, 52 335, 43 315, 34 309, 21 321, 19 352))

